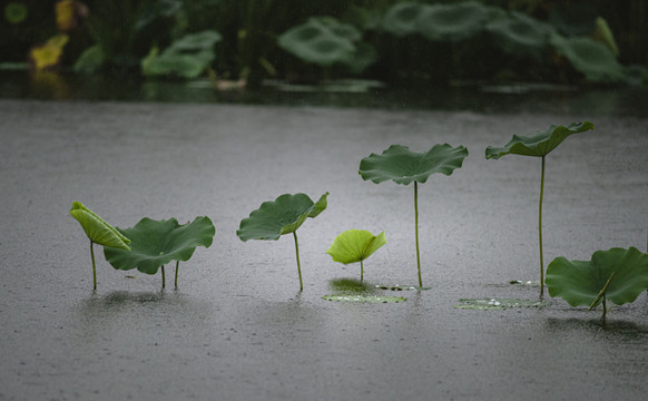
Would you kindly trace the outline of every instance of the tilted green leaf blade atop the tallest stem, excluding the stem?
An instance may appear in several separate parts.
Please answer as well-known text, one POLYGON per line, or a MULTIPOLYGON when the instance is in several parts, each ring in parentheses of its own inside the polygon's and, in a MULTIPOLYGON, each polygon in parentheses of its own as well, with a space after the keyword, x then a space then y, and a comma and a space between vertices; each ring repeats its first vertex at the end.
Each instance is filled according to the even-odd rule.
POLYGON ((489 146, 485 148, 485 158, 499 159, 505 155, 522 156, 547 156, 568 136, 578 133, 585 133, 593 129, 590 121, 572 123, 567 127, 550 126, 547 130, 537 131, 531 136, 513 135, 513 138, 504 146, 489 146))

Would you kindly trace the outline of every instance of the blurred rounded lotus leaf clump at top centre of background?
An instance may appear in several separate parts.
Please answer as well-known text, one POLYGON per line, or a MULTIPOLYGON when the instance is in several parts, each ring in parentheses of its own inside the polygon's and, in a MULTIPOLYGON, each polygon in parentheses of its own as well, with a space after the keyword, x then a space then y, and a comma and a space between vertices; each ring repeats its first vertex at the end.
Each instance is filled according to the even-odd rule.
POLYGON ((360 72, 376 59, 375 49, 361 39, 362 33, 351 25, 313 17, 279 36, 278 45, 306 62, 320 67, 342 63, 360 72))

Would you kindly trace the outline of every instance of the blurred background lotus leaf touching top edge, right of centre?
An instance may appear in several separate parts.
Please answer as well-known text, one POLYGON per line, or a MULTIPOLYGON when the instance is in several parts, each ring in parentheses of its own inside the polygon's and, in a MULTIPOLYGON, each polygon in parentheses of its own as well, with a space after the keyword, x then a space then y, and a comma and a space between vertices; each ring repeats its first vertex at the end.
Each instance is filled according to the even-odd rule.
POLYGON ((475 1, 423 7, 418 18, 418 31, 430 40, 458 42, 483 29, 489 9, 475 1))

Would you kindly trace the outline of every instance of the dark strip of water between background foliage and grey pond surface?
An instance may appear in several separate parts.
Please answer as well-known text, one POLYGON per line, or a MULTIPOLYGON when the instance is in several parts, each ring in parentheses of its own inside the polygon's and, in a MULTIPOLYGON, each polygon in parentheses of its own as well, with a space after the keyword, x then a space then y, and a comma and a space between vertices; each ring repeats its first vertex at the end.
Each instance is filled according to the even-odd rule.
POLYGON ((41 100, 146 101, 424 109, 484 114, 558 114, 644 117, 648 88, 578 87, 543 84, 460 82, 451 87, 363 90, 265 85, 259 90, 216 90, 209 80, 156 81, 117 76, 0 72, 0 98, 41 100))

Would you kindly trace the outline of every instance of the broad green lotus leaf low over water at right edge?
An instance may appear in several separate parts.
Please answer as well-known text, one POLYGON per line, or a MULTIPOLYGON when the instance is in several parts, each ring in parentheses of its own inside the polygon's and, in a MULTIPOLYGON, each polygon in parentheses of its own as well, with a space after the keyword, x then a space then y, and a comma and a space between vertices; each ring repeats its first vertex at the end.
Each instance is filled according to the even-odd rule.
POLYGON ((606 285, 606 300, 617 305, 634 302, 648 290, 648 254, 635 247, 611 248, 595 252, 591 261, 557 257, 547 267, 549 295, 560 296, 571 306, 596 306, 606 285))

